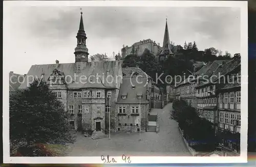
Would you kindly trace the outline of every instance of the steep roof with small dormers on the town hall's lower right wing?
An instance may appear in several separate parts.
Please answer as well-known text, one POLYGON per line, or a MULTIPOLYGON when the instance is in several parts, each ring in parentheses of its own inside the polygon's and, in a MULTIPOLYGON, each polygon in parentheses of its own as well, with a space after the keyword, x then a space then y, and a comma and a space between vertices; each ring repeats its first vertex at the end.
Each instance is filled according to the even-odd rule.
POLYGON ((138 78, 138 82, 136 78, 125 78, 122 80, 119 94, 117 98, 117 103, 147 103, 146 101, 147 94, 147 79, 146 78, 138 78), (140 83, 141 82, 141 83, 140 83), (135 86, 133 89, 132 86, 135 86), (142 94, 142 98, 138 99, 137 94, 142 94), (122 95, 127 95, 125 99, 122 99, 122 95))

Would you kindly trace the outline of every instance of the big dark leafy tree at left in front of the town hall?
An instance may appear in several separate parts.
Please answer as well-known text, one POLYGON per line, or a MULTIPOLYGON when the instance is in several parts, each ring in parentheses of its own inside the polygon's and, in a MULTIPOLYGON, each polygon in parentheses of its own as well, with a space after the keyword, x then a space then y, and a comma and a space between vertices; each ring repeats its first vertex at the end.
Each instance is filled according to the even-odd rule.
POLYGON ((35 80, 10 94, 10 142, 65 143, 71 140, 67 112, 46 82, 35 80), (39 83, 39 84, 38 84, 39 83))

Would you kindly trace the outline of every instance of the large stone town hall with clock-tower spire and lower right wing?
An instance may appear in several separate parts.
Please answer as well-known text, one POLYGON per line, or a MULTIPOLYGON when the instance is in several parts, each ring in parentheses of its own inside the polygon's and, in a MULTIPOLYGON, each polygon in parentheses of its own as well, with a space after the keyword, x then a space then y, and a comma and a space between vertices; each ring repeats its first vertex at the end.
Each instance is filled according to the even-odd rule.
POLYGON ((45 80, 65 105, 69 124, 76 130, 108 131, 110 118, 111 131, 146 131, 151 77, 138 67, 122 68, 120 54, 115 61, 92 58, 89 62, 82 12, 76 38, 75 63, 56 60, 55 64, 33 65, 19 89, 26 89, 33 77, 45 80), (142 77, 137 81, 139 74, 142 77))

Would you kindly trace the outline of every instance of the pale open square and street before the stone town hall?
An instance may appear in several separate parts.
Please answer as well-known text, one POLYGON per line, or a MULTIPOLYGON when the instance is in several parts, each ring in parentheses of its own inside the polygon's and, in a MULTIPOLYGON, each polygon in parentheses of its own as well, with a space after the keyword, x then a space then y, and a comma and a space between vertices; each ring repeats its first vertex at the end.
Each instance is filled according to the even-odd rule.
POLYGON ((78 133, 68 156, 191 156, 179 132, 178 123, 170 119, 171 109, 172 103, 152 111, 160 116, 159 132, 142 132, 141 141, 139 133, 111 133, 111 140, 92 140, 78 133))

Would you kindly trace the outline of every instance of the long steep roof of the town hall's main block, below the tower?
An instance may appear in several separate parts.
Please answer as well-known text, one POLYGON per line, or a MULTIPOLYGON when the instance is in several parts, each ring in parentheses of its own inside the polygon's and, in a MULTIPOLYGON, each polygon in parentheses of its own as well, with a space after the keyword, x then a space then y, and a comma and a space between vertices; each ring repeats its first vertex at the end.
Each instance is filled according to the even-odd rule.
MULTIPOLYGON (((66 77, 66 83, 68 89, 79 89, 79 88, 109 88, 115 89, 120 87, 120 82, 122 79, 121 73, 121 61, 104 61, 104 62, 94 62, 95 65, 92 66, 92 62, 88 62, 87 66, 84 67, 79 73, 76 73, 76 80, 74 77, 75 74, 75 63, 59 64, 57 70, 63 72, 66 77), (99 75, 98 81, 96 80, 97 74, 99 75), (111 82, 110 77, 113 76, 114 80, 111 82), (69 77, 67 77, 69 76, 69 77), (89 81, 89 76, 93 76, 92 81, 89 81), (104 76, 104 77, 103 77, 104 76), (120 76, 120 77, 119 77, 120 76), (79 81, 79 78, 82 78, 82 81, 79 81), (87 78, 87 79, 84 79, 87 78), (106 79, 109 79, 107 81, 106 79), (117 78, 117 81, 116 81, 117 78)), ((19 86, 20 89, 27 88, 29 84, 27 83, 27 77, 29 81, 32 81, 34 78, 40 78, 42 72, 45 73, 45 80, 50 77, 52 71, 56 69, 56 64, 45 64, 45 65, 33 65, 31 66, 25 82, 19 86)))

